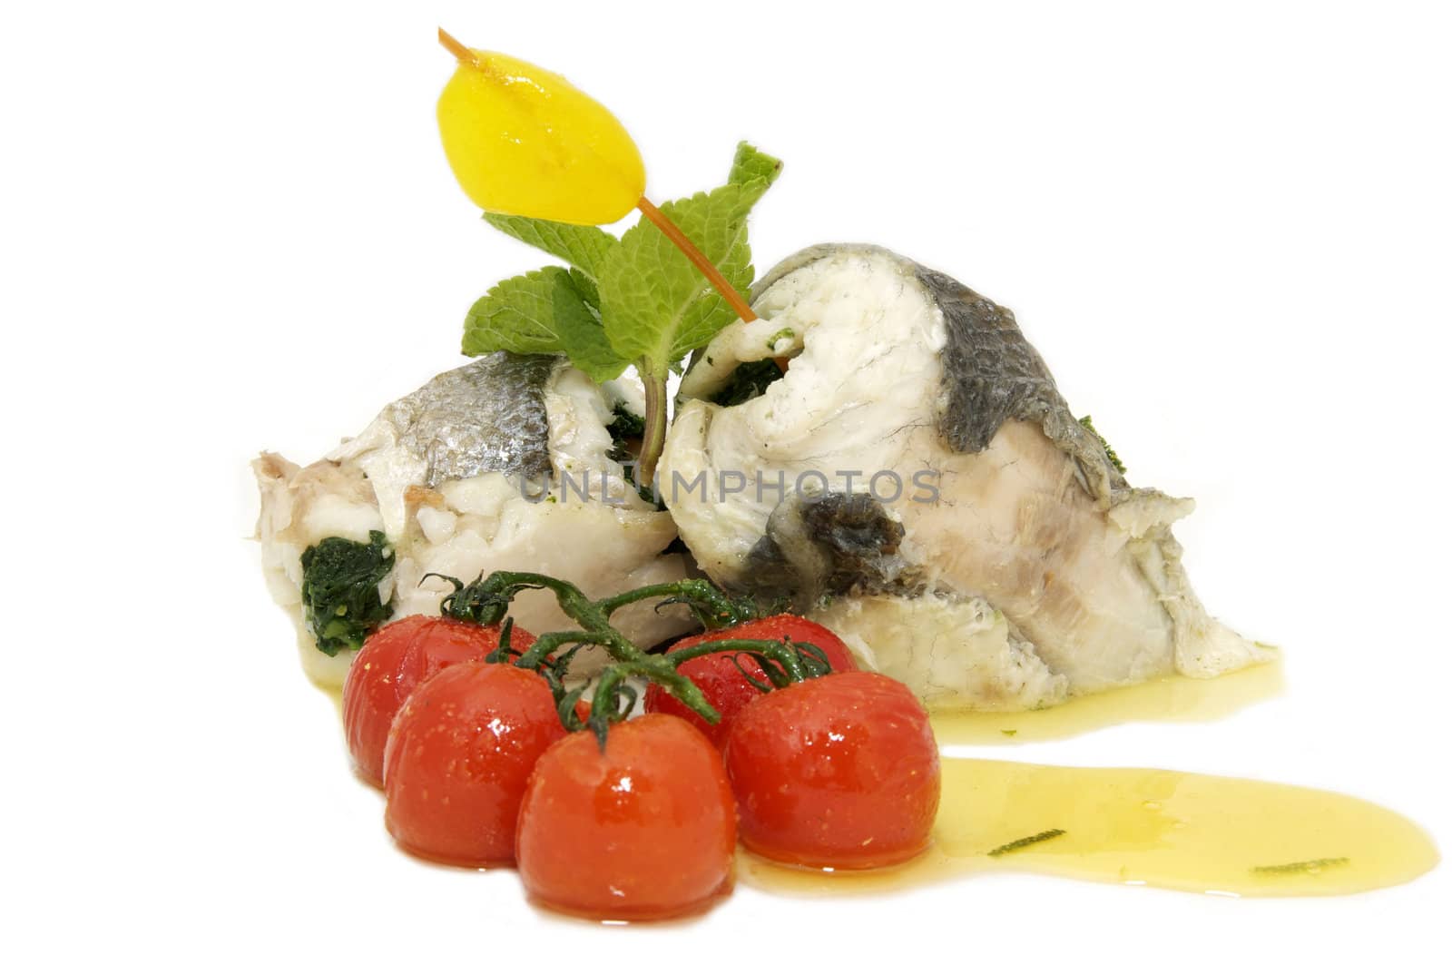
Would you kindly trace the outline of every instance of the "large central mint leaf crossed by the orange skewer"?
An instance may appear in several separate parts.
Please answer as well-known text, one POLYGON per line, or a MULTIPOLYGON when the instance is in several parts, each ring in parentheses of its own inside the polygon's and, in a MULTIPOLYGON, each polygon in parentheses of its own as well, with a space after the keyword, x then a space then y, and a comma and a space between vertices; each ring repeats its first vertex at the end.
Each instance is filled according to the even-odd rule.
MULTIPOLYGON (((738 151, 738 158, 741 158, 738 151)), ((755 156, 755 153, 752 153, 755 156)), ((765 157, 765 156, 756 156, 765 157)), ((748 157, 742 170, 759 164, 748 157)), ((736 166, 732 169, 736 171, 736 166)), ((751 177, 710 193, 661 205, 661 211, 709 257, 738 291, 751 286, 746 215, 767 192, 767 177, 751 177)), ((642 221, 620 238, 601 270, 600 304, 616 353, 642 359, 652 375, 697 349, 736 312, 655 225, 642 221)))

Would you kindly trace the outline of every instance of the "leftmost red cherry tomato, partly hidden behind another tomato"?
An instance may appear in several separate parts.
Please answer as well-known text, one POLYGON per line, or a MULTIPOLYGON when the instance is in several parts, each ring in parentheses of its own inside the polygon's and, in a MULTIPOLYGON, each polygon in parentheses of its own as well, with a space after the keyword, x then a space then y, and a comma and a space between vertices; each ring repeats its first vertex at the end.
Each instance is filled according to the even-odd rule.
MULTIPOLYGON (((518 626, 510 634, 514 650, 533 642, 518 626)), ((498 645, 498 626, 443 616, 405 616, 370 635, 343 683, 343 731, 359 775, 383 786, 388 728, 414 687, 444 667, 482 660, 498 645)))

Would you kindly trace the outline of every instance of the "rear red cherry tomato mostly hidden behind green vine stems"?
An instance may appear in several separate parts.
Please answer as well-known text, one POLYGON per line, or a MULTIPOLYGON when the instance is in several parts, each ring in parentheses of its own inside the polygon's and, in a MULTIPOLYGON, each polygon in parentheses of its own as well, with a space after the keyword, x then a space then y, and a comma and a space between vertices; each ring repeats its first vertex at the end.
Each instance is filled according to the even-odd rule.
MULTIPOLYGON (((822 653, 826 654, 826 660, 832 666, 833 671, 857 670, 857 661, 852 660, 852 651, 847 648, 847 644, 842 642, 841 637, 820 623, 813 623, 806 618, 794 616, 791 613, 767 616, 758 621, 748 621, 746 623, 739 623, 727 629, 717 629, 709 634, 687 637, 678 644, 672 644, 671 651, 685 650, 687 647, 706 644, 714 639, 781 639, 793 644, 813 644, 820 647, 822 653)), ((742 657, 739 663, 754 679, 767 683, 767 674, 751 657, 742 657)), ((680 670, 685 677, 690 677, 690 680, 701 689, 701 693, 706 695, 710 705, 720 712, 720 722, 707 724, 700 714, 685 706, 671 696, 669 692, 653 683, 646 687, 645 709, 648 712, 672 714, 684 721, 688 721, 706 734, 706 737, 709 737, 717 748, 725 747, 730 722, 736 719, 736 715, 741 714, 743 706, 762 695, 761 690, 751 686, 746 677, 742 676, 741 670, 736 669, 736 661, 732 661, 727 654, 696 657, 694 660, 682 663, 677 667, 677 670, 680 670)))

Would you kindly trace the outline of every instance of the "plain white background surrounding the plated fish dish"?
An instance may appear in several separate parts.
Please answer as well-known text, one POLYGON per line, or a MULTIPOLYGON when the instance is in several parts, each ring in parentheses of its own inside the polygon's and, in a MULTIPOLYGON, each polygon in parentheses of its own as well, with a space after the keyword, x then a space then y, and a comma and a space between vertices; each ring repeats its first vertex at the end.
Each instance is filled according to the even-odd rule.
POLYGON ((357 432, 540 263, 449 174, 437 23, 610 105, 656 201, 717 185, 739 138, 780 154, 759 270, 874 241, 955 275, 1018 312, 1134 482, 1199 498, 1191 574, 1285 648, 1288 692, 984 753, 1334 788, 1452 840, 1446 15, 812 6, 0 15, 3 958, 1437 956, 1445 869, 1316 901, 742 888, 601 930, 391 846, 244 539, 245 464, 357 432))

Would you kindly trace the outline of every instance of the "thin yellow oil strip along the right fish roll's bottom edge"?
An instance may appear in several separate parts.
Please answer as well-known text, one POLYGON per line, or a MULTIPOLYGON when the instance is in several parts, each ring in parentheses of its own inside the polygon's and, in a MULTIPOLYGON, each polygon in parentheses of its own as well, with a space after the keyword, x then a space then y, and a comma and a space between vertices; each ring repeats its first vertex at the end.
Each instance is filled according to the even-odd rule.
POLYGON ((939 744, 1018 744, 1072 737, 1131 721, 1214 721, 1285 687, 1279 660, 1214 680, 1166 677, 1073 698, 1043 711, 934 711, 939 744))

